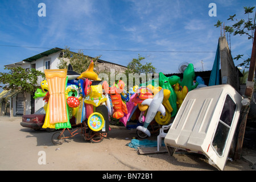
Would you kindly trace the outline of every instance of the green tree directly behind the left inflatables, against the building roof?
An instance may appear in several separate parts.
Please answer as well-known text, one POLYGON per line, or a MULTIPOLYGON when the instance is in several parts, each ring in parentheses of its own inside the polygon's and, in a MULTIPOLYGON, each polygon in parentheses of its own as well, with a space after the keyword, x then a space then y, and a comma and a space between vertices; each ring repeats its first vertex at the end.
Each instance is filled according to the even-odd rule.
POLYGON ((90 61, 93 60, 95 72, 97 71, 97 61, 101 56, 89 57, 85 56, 81 50, 72 52, 69 47, 65 47, 59 55, 60 63, 57 65, 59 69, 68 69, 68 64, 72 65, 73 71, 82 73, 89 67, 90 61))

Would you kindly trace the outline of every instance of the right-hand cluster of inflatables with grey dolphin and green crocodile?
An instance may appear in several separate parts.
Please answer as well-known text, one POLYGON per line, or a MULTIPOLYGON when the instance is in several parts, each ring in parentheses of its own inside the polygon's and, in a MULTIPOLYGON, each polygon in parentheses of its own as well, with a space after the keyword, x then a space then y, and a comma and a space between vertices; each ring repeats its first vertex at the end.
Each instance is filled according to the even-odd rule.
POLYGON ((198 81, 194 81, 194 78, 193 64, 188 64, 182 81, 178 76, 166 77, 160 72, 159 78, 142 84, 139 88, 130 88, 132 96, 130 102, 126 102, 128 114, 120 118, 120 121, 126 126, 130 119, 137 117, 137 120, 144 122, 137 130, 150 136, 147 127, 151 121, 155 120, 159 125, 168 125, 171 118, 177 114, 187 93, 199 85, 206 86, 203 79, 197 77, 198 81))

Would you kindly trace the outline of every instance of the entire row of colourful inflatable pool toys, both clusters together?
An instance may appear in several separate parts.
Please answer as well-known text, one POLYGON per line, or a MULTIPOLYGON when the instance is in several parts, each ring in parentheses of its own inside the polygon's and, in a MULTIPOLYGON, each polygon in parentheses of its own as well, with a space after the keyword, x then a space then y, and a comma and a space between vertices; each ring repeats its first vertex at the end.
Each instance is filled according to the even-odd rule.
POLYGON ((93 68, 91 61, 89 68, 81 74, 73 71, 71 65, 68 69, 44 71, 46 80, 41 83, 42 89, 35 93, 35 98, 44 97, 46 101, 43 128, 71 128, 69 119, 76 117, 77 125, 87 120, 90 129, 100 131, 112 116, 125 126, 130 119, 144 122, 137 129, 150 136, 147 129, 150 122, 155 119, 159 125, 168 125, 187 93, 199 85, 193 81, 192 64, 185 69, 182 81, 178 76, 166 77, 159 73, 159 78, 134 86, 129 92, 122 80, 113 86, 101 81, 93 68))

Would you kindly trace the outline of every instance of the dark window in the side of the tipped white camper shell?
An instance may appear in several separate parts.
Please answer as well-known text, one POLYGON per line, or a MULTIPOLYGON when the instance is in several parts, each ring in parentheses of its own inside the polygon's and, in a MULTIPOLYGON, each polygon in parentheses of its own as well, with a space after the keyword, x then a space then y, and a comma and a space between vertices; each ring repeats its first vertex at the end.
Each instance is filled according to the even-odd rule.
POLYGON ((232 98, 229 95, 227 95, 220 119, 218 121, 218 126, 212 141, 214 149, 220 156, 223 155, 224 148, 226 146, 226 140, 228 139, 229 136, 230 127, 232 125, 236 108, 237 105, 234 103, 232 98))

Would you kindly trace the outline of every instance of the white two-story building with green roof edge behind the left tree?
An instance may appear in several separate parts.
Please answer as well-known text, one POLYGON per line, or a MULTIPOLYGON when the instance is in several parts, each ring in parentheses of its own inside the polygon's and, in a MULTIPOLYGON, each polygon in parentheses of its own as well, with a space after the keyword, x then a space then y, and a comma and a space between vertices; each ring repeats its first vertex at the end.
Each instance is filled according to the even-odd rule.
MULTIPOLYGON (((61 48, 52 48, 48 51, 39 53, 38 55, 28 57, 27 59, 24 59, 22 61, 5 65, 5 67, 22 67, 24 69, 30 69, 35 68, 38 71, 44 72, 44 69, 58 69, 57 65, 60 63, 59 55, 61 52, 61 48)), ((111 65, 111 67, 115 67, 119 70, 126 69, 125 66, 110 63, 108 61, 104 60, 98 60, 99 64, 106 64, 111 65)), ((42 77, 38 78, 38 85, 43 81, 42 77)), ((6 95, 6 97, 10 98, 10 115, 23 115, 23 94, 22 93, 16 93, 16 94, 9 94, 9 96, 6 95), (12 109, 11 109, 12 108, 12 109)), ((43 98, 36 98, 34 99, 33 96, 30 93, 27 93, 26 98, 26 114, 32 114, 36 110, 40 109, 40 107, 43 107, 45 102, 43 101, 43 98)))

